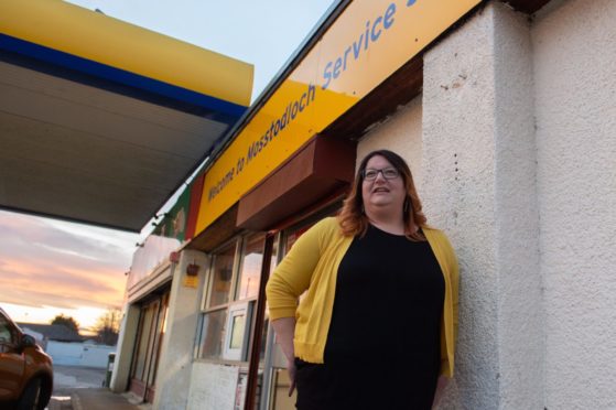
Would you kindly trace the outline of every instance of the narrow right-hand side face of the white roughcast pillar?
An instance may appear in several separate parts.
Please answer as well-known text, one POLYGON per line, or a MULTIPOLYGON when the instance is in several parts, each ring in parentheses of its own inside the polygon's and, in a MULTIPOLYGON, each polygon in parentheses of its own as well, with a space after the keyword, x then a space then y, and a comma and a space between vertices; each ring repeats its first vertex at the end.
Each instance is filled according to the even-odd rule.
POLYGON ((544 303, 528 17, 494 2, 499 408, 542 409, 544 303))

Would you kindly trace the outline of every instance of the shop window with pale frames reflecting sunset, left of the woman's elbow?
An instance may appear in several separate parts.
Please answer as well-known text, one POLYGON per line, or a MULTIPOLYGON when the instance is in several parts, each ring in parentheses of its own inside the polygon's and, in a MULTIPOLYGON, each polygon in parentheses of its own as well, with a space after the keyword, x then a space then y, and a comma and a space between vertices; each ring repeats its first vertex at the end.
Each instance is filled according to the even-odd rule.
POLYGON ((247 359, 259 295, 264 235, 250 235, 214 253, 205 292, 198 357, 247 359))

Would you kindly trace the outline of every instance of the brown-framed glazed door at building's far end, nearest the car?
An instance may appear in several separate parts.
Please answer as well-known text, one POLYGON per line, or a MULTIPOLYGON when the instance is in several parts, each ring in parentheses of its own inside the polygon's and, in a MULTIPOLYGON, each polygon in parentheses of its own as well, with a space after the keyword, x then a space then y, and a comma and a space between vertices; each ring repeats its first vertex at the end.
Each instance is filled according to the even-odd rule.
POLYGON ((154 382, 167 309, 169 290, 141 305, 129 390, 142 397, 144 402, 152 402, 154 399, 154 382))

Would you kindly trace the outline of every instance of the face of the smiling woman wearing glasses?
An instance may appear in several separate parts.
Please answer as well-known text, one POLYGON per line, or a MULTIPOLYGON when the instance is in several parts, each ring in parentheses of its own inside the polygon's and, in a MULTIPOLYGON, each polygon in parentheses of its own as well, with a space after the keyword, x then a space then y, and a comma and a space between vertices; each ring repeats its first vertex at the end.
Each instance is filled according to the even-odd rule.
POLYGON ((378 172, 377 176, 369 181, 364 177, 361 183, 361 197, 364 199, 364 208, 366 211, 382 211, 386 208, 392 212, 402 211, 407 192, 404 190, 404 182, 402 175, 393 179, 386 179, 388 169, 396 168, 385 159, 385 157, 375 155, 368 160, 366 171, 382 171, 378 172))

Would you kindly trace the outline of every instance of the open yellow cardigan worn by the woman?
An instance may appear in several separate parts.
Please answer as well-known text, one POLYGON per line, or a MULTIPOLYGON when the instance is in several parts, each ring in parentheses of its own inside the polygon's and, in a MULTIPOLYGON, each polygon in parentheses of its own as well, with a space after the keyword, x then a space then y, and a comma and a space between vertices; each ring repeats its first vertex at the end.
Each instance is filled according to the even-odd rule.
MULTIPOLYGON (((452 377, 457 337, 457 260, 445 234, 422 229, 445 279, 441 375, 452 377)), ((323 363, 338 266, 352 241, 353 237, 342 235, 337 218, 325 218, 298 239, 268 282, 270 320, 295 317, 295 356, 305 362, 323 363), (298 306, 298 298, 306 290, 298 306)))

